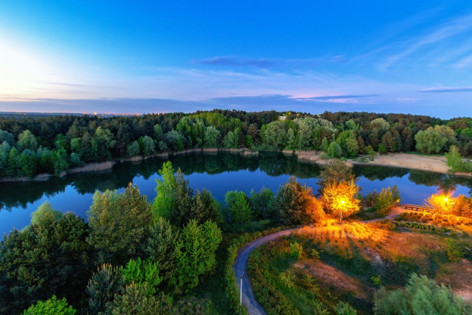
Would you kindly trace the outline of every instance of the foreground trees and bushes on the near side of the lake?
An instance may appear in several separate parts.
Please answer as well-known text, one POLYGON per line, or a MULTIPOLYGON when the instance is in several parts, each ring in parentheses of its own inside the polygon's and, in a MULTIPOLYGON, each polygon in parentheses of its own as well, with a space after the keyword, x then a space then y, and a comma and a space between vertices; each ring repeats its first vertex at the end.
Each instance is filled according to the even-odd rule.
MULTIPOLYGON (((161 179, 156 179, 153 200, 141 195, 139 188, 131 183, 121 194, 116 190, 96 191, 87 222, 72 212, 63 214, 46 201, 32 213, 29 226, 5 234, 0 242, 0 314, 246 314, 239 307, 233 270, 238 249, 262 235, 290 227, 318 224, 323 229, 326 220, 342 224, 382 218, 401 199, 396 186, 362 195, 353 169, 339 159, 331 160, 319 173, 318 191, 302 186, 291 177, 276 193, 264 187, 249 194, 229 191, 224 203, 215 200, 206 189, 192 189, 180 168, 176 171, 170 161, 163 164, 159 174, 161 179)), ((423 218, 419 214, 418 218, 422 222, 433 220, 433 224, 442 224, 442 233, 449 231, 444 228, 446 223, 450 226, 449 220, 472 225, 472 220, 457 221, 448 216, 452 213, 470 216, 470 198, 461 195, 454 207, 448 209, 443 200, 443 195, 431 196, 426 202, 432 205, 432 214, 423 218)), ((417 215, 411 217, 404 213, 398 217, 398 221, 402 220, 417 220, 417 215)), ((397 223, 399 227, 406 224, 411 225, 397 223)), ((383 225, 386 230, 396 229, 389 220, 383 225)), ((426 225, 417 225, 423 226, 426 225)), ((365 310, 370 314, 372 302, 360 303, 346 296, 338 298, 329 292, 325 295, 313 284, 302 286, 312 296, 306 305, 315 313, 298 313, 299 298, 291 299, 300 293, 287 291, 284 285, 286 281, 289 288, 292 282, 295 284, 294 275, 288 269, 274 280, 282 287, 276 289, 266 284, 266 277, 272 277, 267 272, 274 272, 270 265, 273 255, 285 261, 284 268, 301 258, 306 261, 307 257, 328 257, 327 245, 323 253, 320 245, 313 249, 307 234, 299 235, 290 236, 293 240, 290 249, 284 249, 288 243, 287 238, 282 238, 282 243, 278 243, 281 247, 270 245, 275 248, 266 253, 269 257, 258 256, 262 259, 260 268, 266 266, 266 271, 254 265, 255 258, 251 256, 248 268, 255 294, 267 310, 277 310, 270 314, 355 315, 355 309, 360 314, 365 310), (284 297, 280 292, 292 293, 284 297)), ((453 243, 453 246, 457 249, 451 254, 453 259, 468 257, 464 251, 470 246, 467 242, 453 243)), ((346 259, 343 263, 347 263, 346 259)), ((357 262, 349 266, 355 267, 357 262)), ((401 269, 403 265, 395 268, 401 269)), ((401 270, 400 274, 397 269, 386 274, 392 277, 393 284, 403 286, 409 278, 415 279, 414 273, 405 271, 408 269, 401 270)), ((375 272, 369 269, 373 278, 380 277, 375 272)), ((388 277, 384 280, 390 281, 388 277)), ((432 299, 438 303, 446 299, 453 308, 472 309, 472 305, 450 290, 436 288, 434 280, 421 277, 422 282, 436 290, 432 299)), ((383 284, 380 278, 377 283, 383 284)), ((399 314, 395 313, 402 309, 399 298, 406 303, 418 303, 413 297, 399 297, 397 291, 386 286, 376 293, 375 311, 383 310, 376 314, 399 314)))

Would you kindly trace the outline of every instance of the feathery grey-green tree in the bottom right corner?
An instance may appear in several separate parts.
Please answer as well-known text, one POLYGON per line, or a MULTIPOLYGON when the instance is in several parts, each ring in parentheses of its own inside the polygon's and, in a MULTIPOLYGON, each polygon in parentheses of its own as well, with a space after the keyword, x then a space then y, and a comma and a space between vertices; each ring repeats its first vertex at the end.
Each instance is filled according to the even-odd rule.
POLYGON ((466 315, 472 305, 454 295, 450 287, 413 273, 405 288, 387 291, 381 287, 374 295, 374 311, 378 315, 466 315))

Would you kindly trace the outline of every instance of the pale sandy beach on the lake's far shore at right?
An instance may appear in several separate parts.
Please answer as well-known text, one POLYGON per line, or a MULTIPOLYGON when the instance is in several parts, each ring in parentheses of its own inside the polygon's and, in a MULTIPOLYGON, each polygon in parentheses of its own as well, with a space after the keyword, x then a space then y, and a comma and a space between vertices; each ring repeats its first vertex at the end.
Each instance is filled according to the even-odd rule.
POLYGON ((353 164, 394 166, 438 173, 447 173, 449 170, 444 156, 388 153, 386 155, 377 155, 374 161, 369 160, 367 163, 361 163, 359 159, 349 161, 353 164))

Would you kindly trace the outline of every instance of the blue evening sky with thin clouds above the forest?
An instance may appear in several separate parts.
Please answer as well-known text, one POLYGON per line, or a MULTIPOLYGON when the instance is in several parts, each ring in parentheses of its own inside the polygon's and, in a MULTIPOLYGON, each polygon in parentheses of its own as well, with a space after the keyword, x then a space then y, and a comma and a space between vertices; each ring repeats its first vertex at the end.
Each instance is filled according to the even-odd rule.
POLYGON ((0 111, 472 116, 468 1, 0 2, 0 111))

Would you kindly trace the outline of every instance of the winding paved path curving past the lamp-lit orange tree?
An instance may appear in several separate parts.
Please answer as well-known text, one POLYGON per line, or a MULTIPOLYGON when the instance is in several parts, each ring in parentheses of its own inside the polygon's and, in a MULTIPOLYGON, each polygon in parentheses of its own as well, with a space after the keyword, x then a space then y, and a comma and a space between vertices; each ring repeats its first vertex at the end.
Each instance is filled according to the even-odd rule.
MULTIPOLYGON (((402 209, 400 207, 395 208, 392 212, 390 212, 385 218, 387 219, 394 219, 395 217, 399 216, 401 213, 408 211, 405 209, 402 209)), ((383 220, 385 218, 380 218, 380 219, 372 219, 368 221, 359 221, 356 223, 369 223, 369 222, 374 222, 374 221, 379 221, 383 220)), ((339 230, 339 229, 344 229, 345 225, 343 226, 328 226, 328 227, 304 227, 302 229, 311 229, 313 231, 328 231, 328 230, 339 230)), ((353 227, 354 228, 354 227, 353 227)), ((245 247, 239 250, 237 253, 237 257, 235 260, 235 265, 233 266, 233 269, 235 270, 236 274, 236 283, 237 287, 240 287, 241 285, 241 275, 242 275, 242 303, 247 306, 247 312, 249 315, 266 315, 266 312, 264 308, 256 301, 254 298, 254 294, 252 292, 252 286, 251 283, 249 282, 249 278, 247 277, 246 274, 246 267, 247 267, 247 262, 249 260, 249 255, 251 252, 261 246, 264 243, 267 243, 269 241, 272 241, 276 239, 279 236, 282 235, 289 235, 292 232, 297 231, 298 229, 286 229, 280 232, 276 232, 273 234, 269 234, 267 236, 258 238, 251 243, 247 244, 245 247)))

